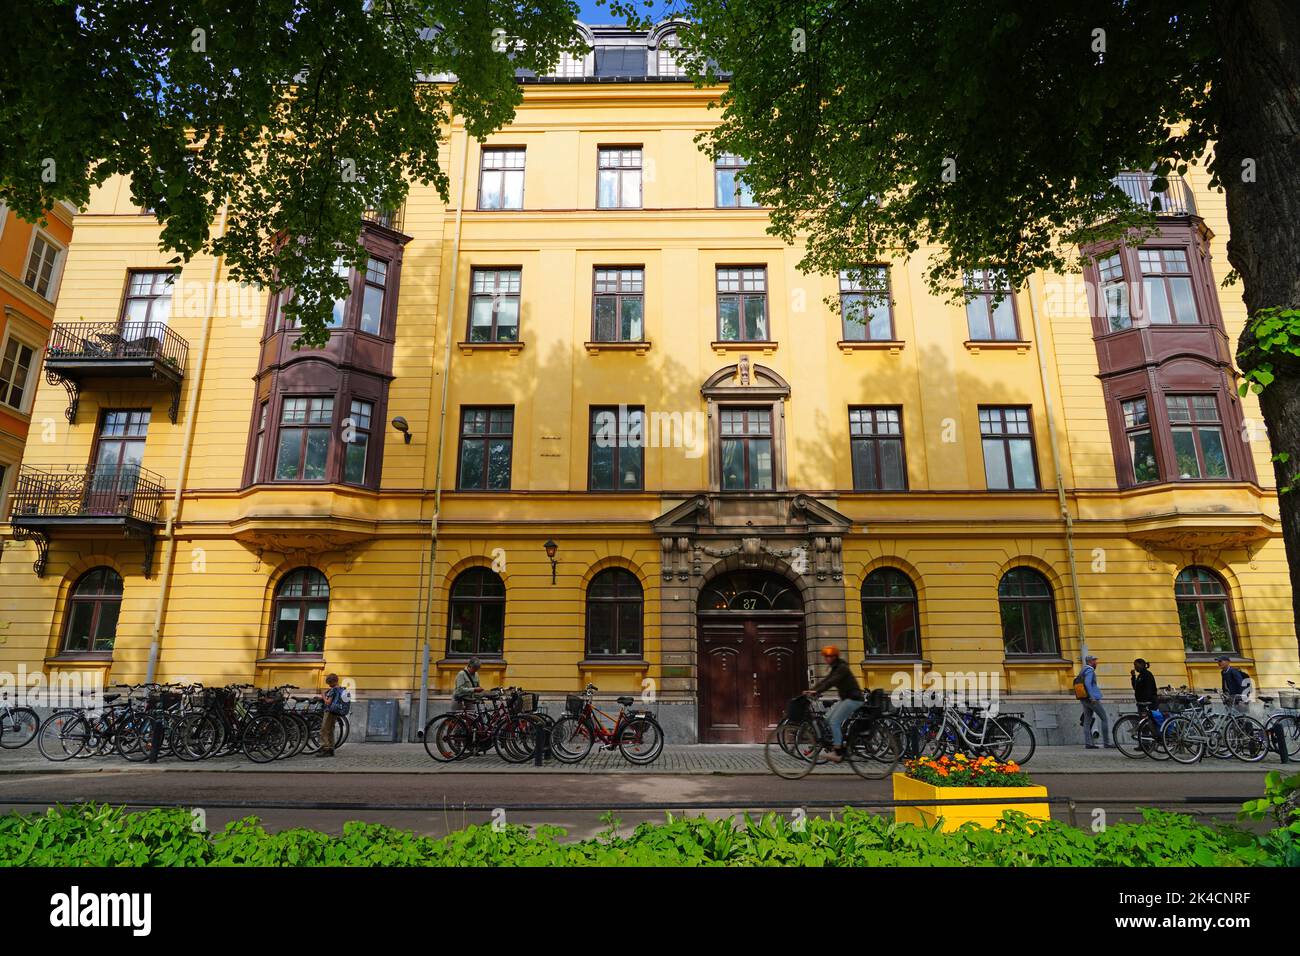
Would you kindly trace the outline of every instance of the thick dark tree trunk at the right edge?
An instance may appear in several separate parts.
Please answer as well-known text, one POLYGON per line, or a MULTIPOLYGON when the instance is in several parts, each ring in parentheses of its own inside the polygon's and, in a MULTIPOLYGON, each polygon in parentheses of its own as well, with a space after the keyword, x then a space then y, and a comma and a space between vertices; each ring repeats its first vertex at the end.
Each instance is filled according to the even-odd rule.
MULTIPOLYGON (((1213 21, 1222 57, 1212 90, 1219 134, 1214 170, 1227 193, 1228 263, 1242 277, 1252 316, 1261 308, 1300 308, 1300 4, 1214 0, 1213 21)), ((1248 321, 1238 343, 1238 363, 1247 371, 1253 365, 1243 350, 1253 342, 1248 321)), ((1274 462, 1283 488, 1300 466, 1300 360, 1269 360, 1277 378, 1260 394, 1260 408, 1273 451, 1291 459, 1274 462)), ((1279 505, 1295 623, 1300 490, 1282 494, 1279 505)))

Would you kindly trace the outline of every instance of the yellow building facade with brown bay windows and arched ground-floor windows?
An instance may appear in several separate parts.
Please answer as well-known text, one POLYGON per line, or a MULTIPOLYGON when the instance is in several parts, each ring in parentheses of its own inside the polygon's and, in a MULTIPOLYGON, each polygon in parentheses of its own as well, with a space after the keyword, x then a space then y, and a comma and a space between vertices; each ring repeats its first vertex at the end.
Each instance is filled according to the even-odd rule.
POLYGON ((826 644, 871 687, 978 678, 1049 741, 1084 646, 1114 697, 1135 657, 1161 684, 1217 685, 1221 653, 1300 672, 1202 170, 1140 248, 1006 299, 996 271, 931 294, 924 251, 805 276, 699 151, 716 91, 671 35, 590 42, 486 143, 450 130, 450 203, 413 186, 367 224, 324 350, 221 261, 168 280, 126 185, 94 195, 0 669, 335 671, 410 739, 476 654, 485 684, 653 692, 671 739, 723 743, 762 739, 826 644), (863 321, 828 304, 878 282, 863 321))

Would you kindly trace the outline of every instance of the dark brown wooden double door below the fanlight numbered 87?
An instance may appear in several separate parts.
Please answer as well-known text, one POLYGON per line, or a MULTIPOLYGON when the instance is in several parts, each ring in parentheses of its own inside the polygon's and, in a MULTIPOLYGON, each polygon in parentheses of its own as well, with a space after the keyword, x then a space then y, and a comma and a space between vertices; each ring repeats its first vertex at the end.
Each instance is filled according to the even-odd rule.
POLYGON ((699 615, 699 741, 767 739, 806 687, 802 615, 699 615))

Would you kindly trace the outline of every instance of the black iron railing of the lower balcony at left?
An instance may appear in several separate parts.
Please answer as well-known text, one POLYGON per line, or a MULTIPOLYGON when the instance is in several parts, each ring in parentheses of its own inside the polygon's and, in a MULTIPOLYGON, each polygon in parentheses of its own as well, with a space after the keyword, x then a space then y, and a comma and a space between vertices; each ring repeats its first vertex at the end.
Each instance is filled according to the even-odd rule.
POLYGON ((51 518, 122 518, 157 524, 162 511, 162 476, 125 466, 30 466, 18 470, 9 520, 51 518))

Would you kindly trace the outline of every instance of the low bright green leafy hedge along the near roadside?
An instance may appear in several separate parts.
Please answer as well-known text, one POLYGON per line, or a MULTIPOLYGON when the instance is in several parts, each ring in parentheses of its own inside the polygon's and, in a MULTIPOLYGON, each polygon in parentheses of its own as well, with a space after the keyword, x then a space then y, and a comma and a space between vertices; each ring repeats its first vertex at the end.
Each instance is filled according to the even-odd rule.
POLYGON ((767 814, 673 818, 560 843, 555 827, 471 826, 442 839, 351 822, 342 836, 313 830, 268 834, 256 818, 218 834, 188 812, 126 813, 103 805, 0 817, 0 866, 1249 866, 1294 865, 1296 827, 1256 836, 1235 826, 1145 810, 1141 823, 1089 834, 1008 812, 996 829, 942 834, 889 817, 845 810, 802 826, 767 814))

